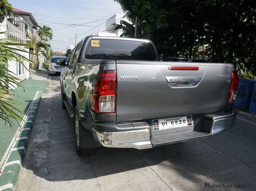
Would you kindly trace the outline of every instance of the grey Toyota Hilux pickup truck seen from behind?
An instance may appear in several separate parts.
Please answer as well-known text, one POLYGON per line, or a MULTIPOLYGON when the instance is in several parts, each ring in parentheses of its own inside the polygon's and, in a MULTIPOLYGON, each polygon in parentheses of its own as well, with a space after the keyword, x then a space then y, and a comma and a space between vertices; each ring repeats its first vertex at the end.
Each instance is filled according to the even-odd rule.
POLYGON ((151 40, 87 36, 60 82, 80 156, 99 146, 148 149, 206 138, 235 126, 233 64, 161 62, 151 40))

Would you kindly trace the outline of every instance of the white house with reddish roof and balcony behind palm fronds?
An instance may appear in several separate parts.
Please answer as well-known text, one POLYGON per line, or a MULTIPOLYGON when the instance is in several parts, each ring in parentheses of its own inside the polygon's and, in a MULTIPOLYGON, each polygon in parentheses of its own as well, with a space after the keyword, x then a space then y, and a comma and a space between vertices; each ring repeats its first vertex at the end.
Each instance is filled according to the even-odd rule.
MULTIPOLYGON (((37 21, 32 16, 31 13, 21 11, 19 9, 13 8, 11 15, 7 16, 3 23, 0 24, 0 31, 10 31, 7 34, 1 34, 1 38, 14 38, 16 40, 26 42, 28 38, 26 37, 26 32, 30 35, 37 33, 37 21)), ((40 37, 38 36, 38 40, 40 37)), ((15 47, 21 49, 20 47, 15 47)), ((23 50, 29 51, 27 48, 22 48, 23 50)), ((21 55, 30 59, 31 55, 29 53, 20 52, 21 55)), ((42 62, 42 61, 41 61, 42 62)), ((29 62, 24 61, 24 65, 29 69, 29 62)), ((29 71, 20 62, 8 61, 8 70, 12 71, 22 80, 29 78, 29 71)))

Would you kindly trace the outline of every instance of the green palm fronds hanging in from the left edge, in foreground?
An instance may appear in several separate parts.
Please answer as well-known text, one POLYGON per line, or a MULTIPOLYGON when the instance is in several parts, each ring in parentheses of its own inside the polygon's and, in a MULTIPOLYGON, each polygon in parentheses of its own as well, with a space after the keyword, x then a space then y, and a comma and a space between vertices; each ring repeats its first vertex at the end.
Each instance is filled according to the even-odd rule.
MULTIPOLYGON (((0 32, 0 34, 7 34, 6 32, 0 32)), ((23 64, 24 61, 31 62, 26 57, 22 56, 20 53, 25 52, 29 53, 23 49, 18 49, 16 47, 29 47, 30 44, 20 43, 13 39, 0 39, 0 90, 4 94, 9 96, 14 95, 15 91, 10 91, 9 88, 15 89, 15 85, 22 87, 19 83, 21 79, 16 77, 16 74, 8 70, 8 61, 20 62, 23 64), (9 86, 9 88, 8 88, 9 86)), ((27 68, 26 68, 27 69, 27 68)), ((22 121, 20 114, 23 114, 21 109, 18 109, 19 102, 12 98, 6 98, 0 96, 0 119, 5 121, 5 124, 8 123, 10 127, 14 124, 12 119, 15 119, 17 122, 22 121)))

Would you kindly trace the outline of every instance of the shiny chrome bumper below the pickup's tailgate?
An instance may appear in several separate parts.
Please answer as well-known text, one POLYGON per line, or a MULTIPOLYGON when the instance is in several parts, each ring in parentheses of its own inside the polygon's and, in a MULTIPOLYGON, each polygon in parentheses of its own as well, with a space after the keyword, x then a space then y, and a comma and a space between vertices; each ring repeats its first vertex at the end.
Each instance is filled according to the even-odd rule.
MULTIPOLYGON (((114 125, 93 123, 94 139, 105 147, 148 149, 155 146, 184 142, 192 139, 206 138, 219 134, 221 131, 235 126, 236 112, 231 111, 221 114, 202 115, 201 122, 209 126, 202 129, 210 129, 208 132, 198 130, 173 135, 164 135, 166 142, 156 143, 151 136, 151 126, 146 122, 114 125), (111 127, 110 127, 111 126, 111 127), (105 132, 104 129, 109 132, 105 132), (112 129, 112 132, 111 132, 112 129), (168 137, 168 138, 167 138, 168 137)), ((198 129, 198 127, 197 127, 198 129)), ((161 138, 158 138, 161 139, 161 138)))

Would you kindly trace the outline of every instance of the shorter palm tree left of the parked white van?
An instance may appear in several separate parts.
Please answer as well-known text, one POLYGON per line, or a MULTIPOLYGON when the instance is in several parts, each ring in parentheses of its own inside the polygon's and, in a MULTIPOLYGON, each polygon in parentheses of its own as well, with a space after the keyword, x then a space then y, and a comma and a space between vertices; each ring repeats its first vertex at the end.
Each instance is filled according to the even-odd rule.
POLYGON ((31 61, 35 62, 36 69, 39 68, 39 56, 40 54, 44 55, 46 58, 48 57, 47 52, 49 48, 51 47, 49 44, 47 44, 45 41, 37 41, 37 36, 34 34, 33 36, 30 36, 27 32, 27 37, 29 37, 29 51, 32 52, 31 61))

